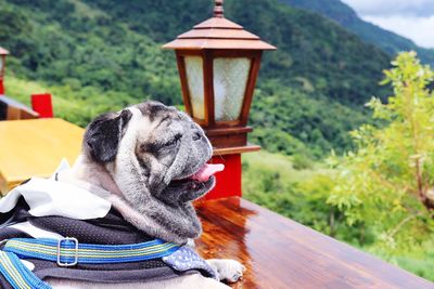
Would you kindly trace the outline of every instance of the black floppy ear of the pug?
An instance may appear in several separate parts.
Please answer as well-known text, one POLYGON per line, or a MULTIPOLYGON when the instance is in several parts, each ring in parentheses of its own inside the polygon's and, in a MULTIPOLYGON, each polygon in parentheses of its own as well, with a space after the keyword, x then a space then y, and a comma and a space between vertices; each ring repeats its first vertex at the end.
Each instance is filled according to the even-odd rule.
POLYGON ((88 126, 84 146, 87 146, 94 161, 105 163, 115 159, 120 139, 131 117, 131 111, 124 109, 119 116, 114 116, 114 113, 103 114, 88 126))

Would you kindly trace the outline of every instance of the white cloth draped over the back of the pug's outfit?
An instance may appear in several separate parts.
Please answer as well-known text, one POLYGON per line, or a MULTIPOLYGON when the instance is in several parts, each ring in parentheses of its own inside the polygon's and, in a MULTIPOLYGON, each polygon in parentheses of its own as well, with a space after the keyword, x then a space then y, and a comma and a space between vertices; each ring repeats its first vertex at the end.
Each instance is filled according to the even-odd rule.
MULTIPOLYGON (((69 169, 62 160, 56 172, 69 169)), ((0 200, 0 213, 15 208, 21 196, 24 197, 35 216, 59 215, 77 220, 105 216, 112 205, 110 201, 78 186, 50 179, 33 178, 27 183, 12 189, 0 200)))

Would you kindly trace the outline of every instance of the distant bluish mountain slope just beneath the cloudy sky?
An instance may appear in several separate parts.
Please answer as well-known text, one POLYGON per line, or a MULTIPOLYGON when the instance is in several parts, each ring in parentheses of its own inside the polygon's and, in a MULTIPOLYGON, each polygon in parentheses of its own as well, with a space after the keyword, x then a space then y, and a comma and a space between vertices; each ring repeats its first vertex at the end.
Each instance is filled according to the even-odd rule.
POLYGON ((317 12, 336 21, 368 43, 372 43, 394 55, 400 51, 414 50, 421 60, 434 65, 434 49, 420 48, 411 40, 365 22, 356 12, 340 0, 280 0, 294 8, 317 12))

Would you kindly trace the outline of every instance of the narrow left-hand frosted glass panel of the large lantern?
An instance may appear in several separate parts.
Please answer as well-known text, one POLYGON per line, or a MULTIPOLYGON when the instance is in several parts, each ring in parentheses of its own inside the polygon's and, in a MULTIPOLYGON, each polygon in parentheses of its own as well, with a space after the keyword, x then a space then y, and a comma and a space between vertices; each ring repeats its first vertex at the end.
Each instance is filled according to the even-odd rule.
POLYGON ((186 56, 187 82, 193 117, 205 119, 203 60, 201 56, 186 56))

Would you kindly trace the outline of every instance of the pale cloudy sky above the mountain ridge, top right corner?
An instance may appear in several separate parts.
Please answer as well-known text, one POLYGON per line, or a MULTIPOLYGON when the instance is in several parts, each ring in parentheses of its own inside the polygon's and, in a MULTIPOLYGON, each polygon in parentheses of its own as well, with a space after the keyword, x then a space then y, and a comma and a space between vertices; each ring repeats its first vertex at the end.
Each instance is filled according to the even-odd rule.
POLYGON ((434 0, 341 0, 365 21, 434 48, 434 0))

